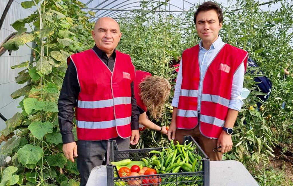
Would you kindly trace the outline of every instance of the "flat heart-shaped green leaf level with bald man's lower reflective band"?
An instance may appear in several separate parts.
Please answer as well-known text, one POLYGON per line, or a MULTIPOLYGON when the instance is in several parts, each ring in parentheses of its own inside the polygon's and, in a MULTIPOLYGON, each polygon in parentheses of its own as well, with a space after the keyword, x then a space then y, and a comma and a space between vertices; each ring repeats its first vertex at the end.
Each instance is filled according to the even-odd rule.
POLYGON ((32 122, 28 129, 37 139, 42 139, 45 134, 53 132, 53 124, 50 122, 32 122))

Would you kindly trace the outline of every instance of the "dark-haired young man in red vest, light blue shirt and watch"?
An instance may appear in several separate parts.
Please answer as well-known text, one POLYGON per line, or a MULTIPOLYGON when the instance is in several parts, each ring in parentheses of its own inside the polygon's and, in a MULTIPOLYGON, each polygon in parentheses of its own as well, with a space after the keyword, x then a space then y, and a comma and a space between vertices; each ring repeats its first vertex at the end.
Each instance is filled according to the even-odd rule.
POLYGON ((222 42, 223 14, 207 1, 194 14, 200 43, 185 50, 177 76, 168 138, 192 135, 211 161, 232 149, 231 134, 241 109, 248 53, 222 42), (220 151, 215 149, 222 146, 220 151))

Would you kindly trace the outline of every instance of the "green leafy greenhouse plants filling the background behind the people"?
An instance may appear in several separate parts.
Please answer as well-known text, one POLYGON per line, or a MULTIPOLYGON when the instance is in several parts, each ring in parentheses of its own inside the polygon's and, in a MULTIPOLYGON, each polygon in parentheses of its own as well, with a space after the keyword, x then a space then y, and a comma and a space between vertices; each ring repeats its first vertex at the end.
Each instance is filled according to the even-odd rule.
MULTIPOLYGON (((236 11, 223 7, 224 23, 220 31, 224 42, 247 50, 260 66, 248 68, 245 75, 244 87, 251 90, 251 94, 244 100, 235 124, 234 148, 224 159, 241 161, 261 185, 267 184, 266 178, 263 173, 255 172, 254 166, 267 164, 278 142, 292 143, 293 79, 291 75, 284 75, 284 68, 289 66, 290 69, 293 58, 293 3, 292 0, 279 2, 282 6, 276 11, 261 11, 258 1, 252 0, 238 0, 233 7, 236 11), (252 70, 255 73, 251 73, 252 70), (264 108, 258 110, 253 105, 260 102, 257 95, 262 93, 253 78, 263 75, 270 78, 273 88, 269 100, 263 103, 264 108)), ((8 120, 7 127, 1 131, 1 139, 8 139, 1 154, 11 156, 12 160, 7 168, 1 169, 0 186, 79 185, 76 162, 67 161, 62 153, 57 100, 67 57, 94 45, 90 33, 93 23, 79 8, 84 4, 76 0, 25 1, 22 6, 38 6, 38 9, 28 18, 12 23, 18 35, 4 47, 18 50, 18 46, 34 42, 34 60, 11 67, 24 68, 16 82, 27 85, 11 94, 12 98, 24 96, 19 103, 22 112, 8 120), (33 32, 26 32, 27 23, 33 32)), ((118 50, 131 55, 136 69, 164 76, 174 84, 176 73, 170 61, 178 61, 183 50, 200 41, 193 13, 174 17, 151 12, 149 6, 156 8, 158 2, 142 1, 142 11, 117 19, 123 33, 118 50)), ((93 12, 90 14, 94 16, 93 12)), ((172 97, 173 90, 162 119, 155 121, 157 124, 169 125, 172 97)), ((141 133, 139 144, 132 148, 164 145, 168 143, 166 138, 146 130, 141 133)))

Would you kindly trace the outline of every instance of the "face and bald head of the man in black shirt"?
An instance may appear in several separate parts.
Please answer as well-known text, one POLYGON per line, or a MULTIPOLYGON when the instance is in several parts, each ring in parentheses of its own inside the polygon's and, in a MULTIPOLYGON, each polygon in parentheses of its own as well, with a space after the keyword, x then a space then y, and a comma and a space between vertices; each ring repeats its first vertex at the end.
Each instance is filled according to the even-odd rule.
POLYGON ((104 51, 113 51, 122 36, 118 23, 111 18, 100 18, 92 31, 93 40, 97 47, 104 51))

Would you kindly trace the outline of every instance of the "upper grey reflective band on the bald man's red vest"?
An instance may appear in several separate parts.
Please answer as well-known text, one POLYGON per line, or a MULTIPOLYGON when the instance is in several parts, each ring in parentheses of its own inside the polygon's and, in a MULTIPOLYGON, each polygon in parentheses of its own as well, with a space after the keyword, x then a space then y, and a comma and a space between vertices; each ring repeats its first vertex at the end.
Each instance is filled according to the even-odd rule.
MULTIPOLYGON (((131 97, 118 97, 114 98, 115 105, 130 104, 131 97)), ((79 108, 105 108, 113 107, 113 99, 100 100, 100 101, 81 101, 78 100, 77 107, 79 108)))

